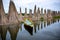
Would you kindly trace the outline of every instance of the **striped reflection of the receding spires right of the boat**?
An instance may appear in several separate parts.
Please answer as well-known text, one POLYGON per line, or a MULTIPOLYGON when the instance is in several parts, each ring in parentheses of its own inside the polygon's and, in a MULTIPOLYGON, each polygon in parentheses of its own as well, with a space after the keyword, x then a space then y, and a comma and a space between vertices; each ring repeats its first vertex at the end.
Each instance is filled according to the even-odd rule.
POLYGON ((56 21, 59 22, 60 20, 58 19, 58 20, 47 20, 47 21, 35 21, 33 31, 36 33, 37 30, 39 31, 40 29, 48 27, 49 25, 55 23, 56 21))

